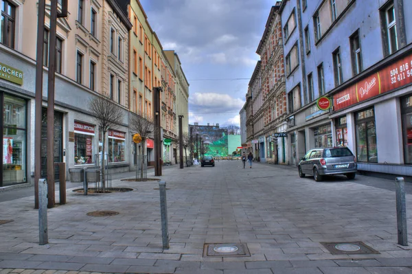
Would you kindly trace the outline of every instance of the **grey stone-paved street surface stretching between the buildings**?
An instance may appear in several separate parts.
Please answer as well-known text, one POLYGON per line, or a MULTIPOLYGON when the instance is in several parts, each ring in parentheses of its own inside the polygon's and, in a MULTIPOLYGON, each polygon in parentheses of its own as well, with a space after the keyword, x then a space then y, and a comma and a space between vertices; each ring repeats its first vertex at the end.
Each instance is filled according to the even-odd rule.
MULTIPOLYGON (((163 250, 159 184, 113 181, 131 192, 84 196, 48 210, 49 244, 38 245, 34 198, 0 202, 3 273, 412 273, 397 244, 393 181, 357 176, 315 182, 281 165, 220 161, 163 170, 170 249, 163 250), (368 182, 368 183, 365 183, 368 182), (111 210, 109 217, 88 212, 111 210), (361 241, 379 254, 332 255, 321 242, 361 241), (207 257, 204 244, 247 244, 248 257, 207 257)), ((79 184, 81 187, 81 184, 79 184)), ((58 195, 57 195, 58 196, 58 195)), ((411 227, 412 195, 407 194, 411 227)), ((409 244, 411 233, 409 233, 409 244)))

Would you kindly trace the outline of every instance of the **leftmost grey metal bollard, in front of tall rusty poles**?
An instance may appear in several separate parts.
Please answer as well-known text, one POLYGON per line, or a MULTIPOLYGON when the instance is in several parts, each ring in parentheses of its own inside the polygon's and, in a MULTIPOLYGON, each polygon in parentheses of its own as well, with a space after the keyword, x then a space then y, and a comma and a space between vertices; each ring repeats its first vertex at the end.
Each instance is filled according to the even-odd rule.
POLYGON ((38 244, 44 245, 49 242, 47 229, 47 181, 38 180, 38 244))

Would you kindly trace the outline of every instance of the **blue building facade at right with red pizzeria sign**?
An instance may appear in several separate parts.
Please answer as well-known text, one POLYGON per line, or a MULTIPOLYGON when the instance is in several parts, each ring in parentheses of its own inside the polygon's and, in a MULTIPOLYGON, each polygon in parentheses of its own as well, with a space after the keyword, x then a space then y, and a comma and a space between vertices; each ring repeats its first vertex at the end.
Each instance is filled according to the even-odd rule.
POLYGON ((282 1, 290 164, 312 148, 347 146, 358 170, 412 174, 411 9, 403 0, 282 1), (332 109, 317 107, 321 96, 332 109))

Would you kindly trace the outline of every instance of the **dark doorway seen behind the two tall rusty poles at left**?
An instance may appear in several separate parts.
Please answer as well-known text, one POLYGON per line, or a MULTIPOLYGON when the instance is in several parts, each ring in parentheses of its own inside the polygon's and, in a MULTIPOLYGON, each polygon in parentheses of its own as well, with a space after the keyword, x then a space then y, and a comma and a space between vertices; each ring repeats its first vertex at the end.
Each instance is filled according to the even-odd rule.
MULTIPOLYGON (((62 162, 62 113, 54 111, 54 163, 62 162)), ((41 178, 47 177, 47 109, 42 110, 41 125, 41 178)), ((54 166, 54 180, 58 181, 60 172, 54 166)))

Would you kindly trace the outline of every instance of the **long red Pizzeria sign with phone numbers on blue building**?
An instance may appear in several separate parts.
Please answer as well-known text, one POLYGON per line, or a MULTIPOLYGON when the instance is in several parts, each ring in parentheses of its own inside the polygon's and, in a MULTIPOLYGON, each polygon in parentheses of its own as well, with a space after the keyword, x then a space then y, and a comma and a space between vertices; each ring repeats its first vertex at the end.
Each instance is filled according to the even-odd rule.
POLYGON ((412 83, 412 54, 373 73, 333 96, 334 111, 412 83))

